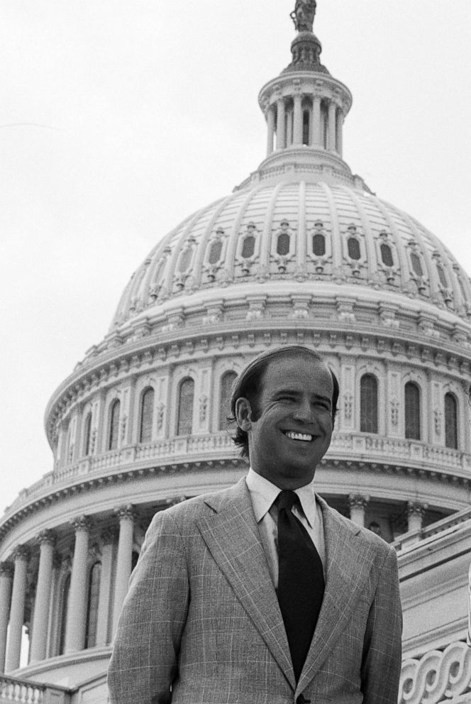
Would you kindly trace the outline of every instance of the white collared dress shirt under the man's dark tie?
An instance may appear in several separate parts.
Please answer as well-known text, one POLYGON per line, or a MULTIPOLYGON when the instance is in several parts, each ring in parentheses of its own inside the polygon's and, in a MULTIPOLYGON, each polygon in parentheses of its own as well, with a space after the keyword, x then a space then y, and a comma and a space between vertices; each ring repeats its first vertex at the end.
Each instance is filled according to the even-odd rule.
MULTIPOLYGON (((278 586, 278 514, 276 507, 273 507, 273 502, 281 489, 265 479, 265 477, 254 472, 252 468, 249 469, 245 481, 247 482, 255 520, 257 521, 260 537, 262 538, 265 554, 267 556, 270 576, 272 577, 276 589, 278 586)), ((325 576, 326 544, 324 541, 322 510, 316 501, 314 481, 299 487, 299 489, 295 489, 294 493, 299 497, 301 508, 299 505, 295 504, 292 507, 292 512, 304 525, 309 537, 316 546, 325 576)))

